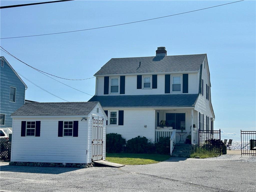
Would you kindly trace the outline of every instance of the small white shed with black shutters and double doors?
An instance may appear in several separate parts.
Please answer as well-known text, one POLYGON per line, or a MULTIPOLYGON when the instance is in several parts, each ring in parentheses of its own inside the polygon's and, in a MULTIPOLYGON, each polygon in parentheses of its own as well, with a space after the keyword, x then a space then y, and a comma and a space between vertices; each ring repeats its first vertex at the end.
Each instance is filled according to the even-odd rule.
POLYGON ((107 116, 99 102, 26 103, 11 117, 12 162, 105 159, 107 116))

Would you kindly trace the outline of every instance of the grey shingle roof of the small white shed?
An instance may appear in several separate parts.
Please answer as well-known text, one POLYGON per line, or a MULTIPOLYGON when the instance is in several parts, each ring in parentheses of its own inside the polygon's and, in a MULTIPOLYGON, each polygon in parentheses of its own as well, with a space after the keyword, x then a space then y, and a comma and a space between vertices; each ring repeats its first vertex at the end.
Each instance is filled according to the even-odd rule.
POLYGON ((98 102, 26 103, 12 115, 88 115, 98 102))

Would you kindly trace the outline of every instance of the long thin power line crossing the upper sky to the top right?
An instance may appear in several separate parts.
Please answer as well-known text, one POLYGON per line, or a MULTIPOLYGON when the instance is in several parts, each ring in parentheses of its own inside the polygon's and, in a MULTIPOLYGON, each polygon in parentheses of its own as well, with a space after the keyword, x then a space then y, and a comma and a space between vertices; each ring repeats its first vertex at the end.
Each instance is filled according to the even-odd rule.
MULTIPOLYGON (((244 1, 244 0, 241 0, 244 1)), ((231 2, 231 3, 237 3, 240 1, 236 1, 236 2, 231 2)), ((177 13, 177 14, 173 14, 173 15, 167 15, 167 16, 163 16, 163 17, 156 17, 156 18, 152 18, 152 19, 145 19, 145 20, 140 20, 140 21, 134 21, 134 22, 129 22, 129 23, 122 23, 122 24, 117 24, 117 25, 109 25, 109 26, 104 26, 104 27, 95 27, 95 28, 90 28, 90 29, 81 29, 81 30, 74 30, 74 31, 65 31, 65 32, 59 32, 59 33, 48 33, 48 34, 40 34, 40 35, 28 35, 28 36, 18 36, 18 37, 5 37, 5 38, 0 38, 0 39, 12 39, 12 38, 21 38, 21 37, 35 37, 35 36, 42 36, 42 35, 54 35, 54 34, 62 34, 62 33, 72 33, 72 32, 77 32, 77 31, 86 31, 86 30, 92 30, 92 29, 101 29, 101 28, 106 28, 106 27, 114 27, 114 26, 119 26, 119 25, 126 25, 126 24, 131 24, 131 23, 138 23, 138 22, 143 22, 143 21, 149 21, 149 20, 154 20, 154 19, 160 19, 160 18, 164 18, 164 17, 170 17, 170 16, 175 16, 175 15, 181 15, 181 14, 185 14, 185 13, 191 13, 191 12, 195 12, 195 11, 200 11, 200 10, 204 10, 204 9, 210 9, 213 7, 219 7, 222 5, 228 5, 231 3, 225 3, 225 4, 221 4, 221 5, 216 5, 216 6, 212 6, 212 7, 206 7, 206 8, 202 8, 202 9, 196 9, 193 11, 188 11, 188 12, 183 12, 183 13, 177 13)))

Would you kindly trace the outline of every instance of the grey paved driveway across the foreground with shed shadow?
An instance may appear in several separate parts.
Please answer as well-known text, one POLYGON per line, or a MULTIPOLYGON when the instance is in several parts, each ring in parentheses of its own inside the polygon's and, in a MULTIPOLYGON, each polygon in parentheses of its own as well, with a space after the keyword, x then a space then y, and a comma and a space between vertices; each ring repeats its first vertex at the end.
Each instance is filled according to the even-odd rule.
POLYGON ((255 158, 228 158, 171 158, 150 165, 87 169, 1 162, 1 191, 255 191, 255 158))

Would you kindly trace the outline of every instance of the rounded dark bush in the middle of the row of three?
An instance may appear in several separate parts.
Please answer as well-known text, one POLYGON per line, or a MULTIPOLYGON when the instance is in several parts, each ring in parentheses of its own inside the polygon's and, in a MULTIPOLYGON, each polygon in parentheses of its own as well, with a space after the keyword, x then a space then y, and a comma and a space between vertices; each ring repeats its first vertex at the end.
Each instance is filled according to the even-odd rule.
POLYGON ((148 143, 146 137, 137 136, 127 141, 125 149, 127 153, 151 153, 154 144, 148 143))

